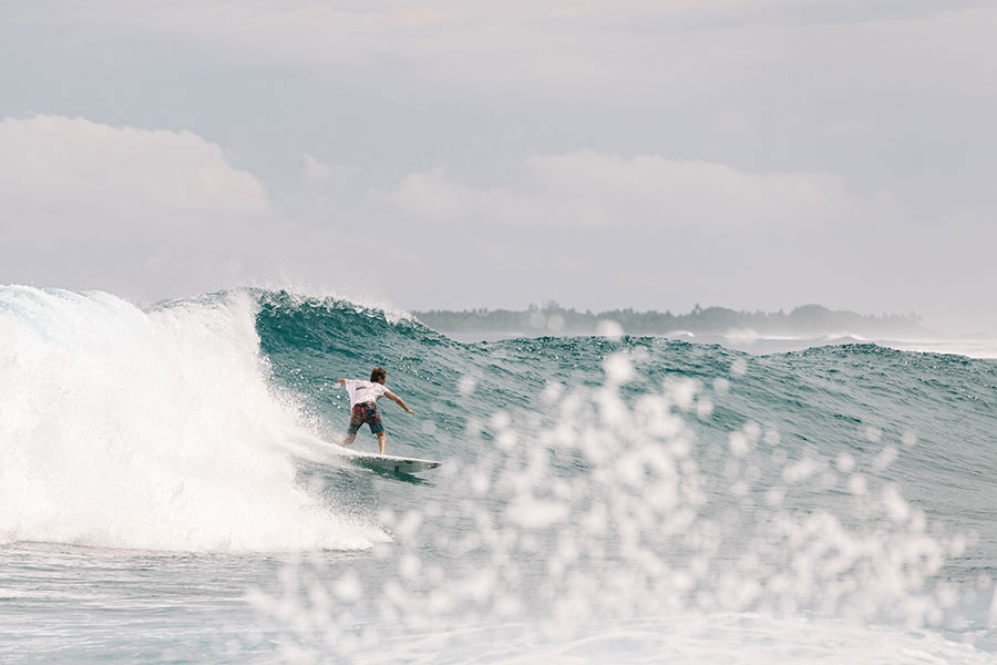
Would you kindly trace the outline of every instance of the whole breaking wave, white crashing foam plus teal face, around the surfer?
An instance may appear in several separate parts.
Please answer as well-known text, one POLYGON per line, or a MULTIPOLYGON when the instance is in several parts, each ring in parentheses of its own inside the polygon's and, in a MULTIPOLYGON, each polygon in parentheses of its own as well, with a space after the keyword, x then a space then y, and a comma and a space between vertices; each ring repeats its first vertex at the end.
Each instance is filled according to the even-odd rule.
MULTIPOLYGON (((300 478, 298 460, 319 459, 316 441, 346 426, 337 378, 388 368, 389 386, 420 413, 386 407, 389 452, 473 468, 500 436, 495 418, 515 423, 523 441, 571 424, 544 424, 553 406, 542 396, 610 386, 606 362, 619 354, 634 362, 617 387, 627 399, 676 379, 698 387, 702 400, 685 418, 699 463, 757 423, 790 457, 867 459, 873 477, 954 522, 997 471, 981 443, 997 409, 997 367, 984 360, 872 344, 749 356, 628 336, 461 344, 400 313, 287 291, 141 309, 102 293, 2 287, 0 540, 367 548, 388 538, 378 519, 337 502, 341 488, 330 500, 300 478), (890 449, 900 460, 873 468, 890 449)), ((647 433, 630 429, 617 436, 647 433)))

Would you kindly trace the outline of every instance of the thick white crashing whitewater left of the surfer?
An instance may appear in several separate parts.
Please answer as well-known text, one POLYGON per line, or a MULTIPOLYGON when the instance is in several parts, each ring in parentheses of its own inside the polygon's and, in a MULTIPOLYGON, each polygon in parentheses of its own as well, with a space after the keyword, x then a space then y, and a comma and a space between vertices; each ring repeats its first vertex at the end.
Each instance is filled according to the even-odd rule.
POLYGON ((156 551, 357 549, 387 536, 296 482, 301 430, 259 357, 256 305, 144 311, 0 288, 0 542, 156 551))

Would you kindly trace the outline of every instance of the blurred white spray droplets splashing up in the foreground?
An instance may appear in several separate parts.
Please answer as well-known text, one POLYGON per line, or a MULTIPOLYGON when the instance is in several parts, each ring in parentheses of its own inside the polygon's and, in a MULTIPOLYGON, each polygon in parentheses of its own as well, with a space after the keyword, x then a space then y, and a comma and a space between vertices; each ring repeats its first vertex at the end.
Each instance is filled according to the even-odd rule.
POLYGON ((446 644, 530 617, 516 640, 563 647, 579 626, 648 616, 907 630, 942 620, 955 596, 933 580, 963 541, 927 533, 924 513, 874 473, 888 460, 835 467, 754 422, 707 454, 690 422, 710 418, 747 364, 734 360, 712 390, 670 378, 635 397, 626 388, 644 357, 608 357, 600 386, 552 381, 527 415, 469 422, 474 463, 440 478, 462 499, 381 512, 393 536, 376 550, 382 575, 294 566, 254 603, 298 636, 289 644, 306 659, 368 657, 384 624, 446 644), (814 491, 830 499, 803 508, 814 491), (358 615, 379 620, 364 627, 358 615), (316 635, 323 646, 309 651, 316 635))

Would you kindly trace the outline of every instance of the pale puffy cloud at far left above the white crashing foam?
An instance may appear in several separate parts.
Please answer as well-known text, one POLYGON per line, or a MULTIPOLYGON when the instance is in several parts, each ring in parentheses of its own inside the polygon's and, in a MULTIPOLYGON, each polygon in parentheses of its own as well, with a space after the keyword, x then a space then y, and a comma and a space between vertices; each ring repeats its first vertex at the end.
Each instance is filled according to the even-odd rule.
POLYGON ((121 229, 271 212, 264 186, 196 134, 55 115, 0 121, 0 205, 66 229, 65 217, 121 229))

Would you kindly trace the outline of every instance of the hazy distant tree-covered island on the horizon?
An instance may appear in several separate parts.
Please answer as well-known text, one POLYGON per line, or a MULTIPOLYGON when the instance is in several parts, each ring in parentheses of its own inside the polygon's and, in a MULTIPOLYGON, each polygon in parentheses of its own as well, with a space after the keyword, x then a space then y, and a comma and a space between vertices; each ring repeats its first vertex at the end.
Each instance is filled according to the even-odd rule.
POLYGON ((688 314, 614 309, 593 313, 562 307, 555 301, 531 305, 526 310, 432 309, 413 311, 420 321, 443 334, 462 336, 537 335, 742 335, 820 336, 860 335, 867 337, 911 337, 929 335, 916 314, 861 315, 831 310, 821 305, 803 305, 790 313, 736 311, 726 307, 701 308, 688 314))

